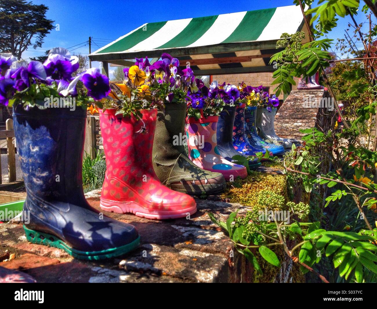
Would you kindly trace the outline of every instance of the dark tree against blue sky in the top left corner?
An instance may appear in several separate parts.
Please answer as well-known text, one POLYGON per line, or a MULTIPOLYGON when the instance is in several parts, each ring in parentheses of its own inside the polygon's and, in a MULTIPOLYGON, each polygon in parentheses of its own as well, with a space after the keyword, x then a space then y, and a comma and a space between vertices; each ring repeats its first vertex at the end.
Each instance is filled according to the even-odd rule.
POLYGON ((41 47, 54 29, 54 21, 45 16, 47 10, 45 5, 25 0, 0 0, 0 52, 11 52, 20 60, 29 46, 41 47))

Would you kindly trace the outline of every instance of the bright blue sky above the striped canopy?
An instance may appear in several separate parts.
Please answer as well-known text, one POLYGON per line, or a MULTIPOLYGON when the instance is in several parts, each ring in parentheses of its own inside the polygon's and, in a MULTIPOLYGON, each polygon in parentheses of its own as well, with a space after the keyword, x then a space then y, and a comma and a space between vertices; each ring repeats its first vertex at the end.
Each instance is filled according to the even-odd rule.
MULTIPOLYGON (((95 51, 98 46, 102 47, 110 40, 115 40, 147 22, 251 11, 293 4, 292 0, 238 0, 234 2, 229 0, 144 0, 143 2, 129 0, 32 0, 32 2, 49 7, 46 15, 49 19, 55 21, 55 25, 59 24, 59 31, 51 31, 45 37, 42 48, 35 50, 30 48, 25 51, 22 55, 24 59, 42 55, 45 50, 57 46, 69 48, 72 53, 88 54, 88 45, 83 45, 85 45, 89 36, 93 37, 92 51, 95 51)), ((364 4, 363 1, 361 3, 364 4)), ((356 21, 358 23, 365 22, 363 16, 364 14, 358 15, 356 21)), ((338 27, 329 34, 329 37, 333 39, 344 37, 344 29, 348 28, 349 21, 350 18, 346 18, 346 20, 340 18, 338 27)), ((376 22, 375 18, 374 22, 376 22)), ((98 66, 98 63, 94 62, 93 66, 98 66)))

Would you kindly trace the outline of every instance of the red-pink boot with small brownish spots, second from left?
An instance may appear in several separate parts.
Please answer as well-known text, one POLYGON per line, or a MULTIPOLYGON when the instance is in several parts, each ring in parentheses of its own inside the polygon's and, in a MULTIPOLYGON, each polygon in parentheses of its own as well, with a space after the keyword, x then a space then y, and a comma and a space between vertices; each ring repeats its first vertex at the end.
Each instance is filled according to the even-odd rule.
POLYGON ((106 174, 100 207, 105 211, 132 212, 148 219, 185 217, 196 212, 195 200, 164 186, 152 166, 157 110, 141 110, 143 118, 100 110, 106 156, 106 174))

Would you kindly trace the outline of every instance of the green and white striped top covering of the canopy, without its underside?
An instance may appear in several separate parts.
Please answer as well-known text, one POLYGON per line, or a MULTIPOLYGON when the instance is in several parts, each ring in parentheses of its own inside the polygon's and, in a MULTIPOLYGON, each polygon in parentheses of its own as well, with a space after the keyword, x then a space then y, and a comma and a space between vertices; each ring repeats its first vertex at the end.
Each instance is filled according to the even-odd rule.
POLYGON ((188 53, 213 54, 221 46, 239 42, 248 43, 249 47, 234 49, 227 45, 233 49, 219 49, 218 52, 257 49, 250 48, 253 45, 250 42, 278 40, 284 32, 294 33, 299 30, 302 22, 300 7, 292 5, 146 23, 98 49, 89 57, 97 61, 130 59, 136 55, 156 57, 161 50, 175 56, 188 53))

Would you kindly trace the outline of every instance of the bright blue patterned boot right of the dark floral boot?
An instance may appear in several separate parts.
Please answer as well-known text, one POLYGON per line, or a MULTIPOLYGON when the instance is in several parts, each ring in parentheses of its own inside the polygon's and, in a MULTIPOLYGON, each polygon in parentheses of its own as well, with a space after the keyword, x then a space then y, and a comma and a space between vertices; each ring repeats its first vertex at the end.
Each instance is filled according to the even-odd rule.
MULTIPOLYGON (((273 143, 267 143, 266 141, 262 140, 257 134, 256 129, 256 106, 248 106, 247 108, 240 107, 238 109, 238 113, 236 113, 236 119, 239 119, 239 125, 244 122, 244 135, 245 143, 250 145, 252 148, 260 148, 263 147, 268 149, 273 155, 280 155, 284 154, 284 147, 282 145, 275 145, 273 143)), ((238 144, 239 145, 239 144, 238 144)), ((244 145, 243 143, 241 145, 244 145)))

